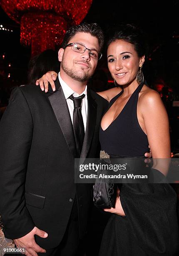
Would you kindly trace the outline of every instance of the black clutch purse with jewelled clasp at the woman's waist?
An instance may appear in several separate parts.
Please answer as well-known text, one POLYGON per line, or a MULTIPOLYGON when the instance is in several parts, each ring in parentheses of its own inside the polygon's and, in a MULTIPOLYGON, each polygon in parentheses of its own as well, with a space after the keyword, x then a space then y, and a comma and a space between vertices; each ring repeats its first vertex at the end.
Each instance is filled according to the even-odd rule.
MULTIPOLYGON (((109 155, 104 151, 100 152, 100 159, 105 164, 110 162, 109 155)), ((98 178, 93 186, 94 205, 101 209, 114 207, 117 196, 117 184, 114 184, 111 179, 99 178, 99 174, 107 173, 105 171, 98 172, 98 178)))

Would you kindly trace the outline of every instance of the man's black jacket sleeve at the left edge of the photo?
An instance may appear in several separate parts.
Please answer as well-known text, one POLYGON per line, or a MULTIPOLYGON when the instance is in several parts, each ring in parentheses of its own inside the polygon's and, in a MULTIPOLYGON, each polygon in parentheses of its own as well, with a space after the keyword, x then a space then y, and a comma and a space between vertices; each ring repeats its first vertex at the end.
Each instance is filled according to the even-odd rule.
POLYGON ((33 121, 19 87, 0 122, 0 215, 6 238, 25 236, 35 226, 25 206, 25 176, 33 121))

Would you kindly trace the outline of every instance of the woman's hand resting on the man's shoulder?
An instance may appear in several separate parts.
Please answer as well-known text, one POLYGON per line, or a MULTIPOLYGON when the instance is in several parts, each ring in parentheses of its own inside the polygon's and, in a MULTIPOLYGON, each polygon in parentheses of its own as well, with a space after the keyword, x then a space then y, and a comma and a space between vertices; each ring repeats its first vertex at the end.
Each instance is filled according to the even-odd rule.
POLYGON ((40 85, 42 91, 44 91, 45 87, 45 92, 48 92, 48 83, 50 83, 52 90, 55 91, 54 81, 57 79, 57 75, 58 74, 55 71, 48 71, 46 74, 40 77, 35 84, 40 85))

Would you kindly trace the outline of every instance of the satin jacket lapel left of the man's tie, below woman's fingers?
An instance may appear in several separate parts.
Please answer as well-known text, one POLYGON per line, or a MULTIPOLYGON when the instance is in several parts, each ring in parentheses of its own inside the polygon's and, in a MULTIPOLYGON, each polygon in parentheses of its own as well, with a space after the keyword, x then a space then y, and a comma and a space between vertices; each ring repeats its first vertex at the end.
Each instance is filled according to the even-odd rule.
POLYGON ((53 111, 60 125, 65 140, 74 156, 77 155, 75 138, 73 133, 72 121, 67 106, 67 101, 60 85, 59 79, 55 81, 55 92, 49 92, 49 100, 52 105, 53 111))

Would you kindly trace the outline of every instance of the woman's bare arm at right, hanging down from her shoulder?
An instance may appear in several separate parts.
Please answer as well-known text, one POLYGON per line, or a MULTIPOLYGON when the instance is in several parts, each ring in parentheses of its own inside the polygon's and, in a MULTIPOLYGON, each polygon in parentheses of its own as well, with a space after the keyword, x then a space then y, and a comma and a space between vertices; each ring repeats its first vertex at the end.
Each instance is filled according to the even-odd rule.
POLYGON ((164 175, 169 166, 170 136, 167 111, 158 92, 149 90, 140 97, 139 110, 144 119, 145 130, 154 160, 153 168, 164 175))

